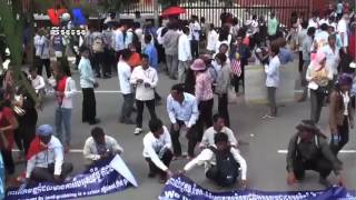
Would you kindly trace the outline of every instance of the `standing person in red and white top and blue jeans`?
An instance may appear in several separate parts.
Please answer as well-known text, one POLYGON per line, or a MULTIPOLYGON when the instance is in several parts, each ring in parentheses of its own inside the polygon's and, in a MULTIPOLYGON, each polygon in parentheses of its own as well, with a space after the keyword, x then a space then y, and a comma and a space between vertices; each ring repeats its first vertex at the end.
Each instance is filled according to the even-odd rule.
POLYGON ((65 146, 65 152, 68 152, 71 139, 71 110, 77 90, 76 82, 71 77, 67 77, 63 73, 63 69, 59 64, 53 71, 57 79, 56 97, 58 102, 56 109, 56 137, 65 146), (65 124, 66 137, 62 134, 62 123, 65 124))

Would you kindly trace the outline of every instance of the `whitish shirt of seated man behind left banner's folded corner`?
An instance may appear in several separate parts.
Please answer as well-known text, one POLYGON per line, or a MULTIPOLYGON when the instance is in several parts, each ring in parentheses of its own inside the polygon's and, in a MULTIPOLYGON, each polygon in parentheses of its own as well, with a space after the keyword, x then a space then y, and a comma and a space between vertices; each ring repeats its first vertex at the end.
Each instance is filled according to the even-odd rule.
MULTIPOLYGON (((119 146, 116 139, 110 136, 105 136, 105 146, 111 153, 123 152, 123 149, 119 146)), ((97 144, 92 137, 87 139, 82 153, 85 159, 89 161, 96 161, 100 159, 101 156, 98 153, 97 144)))

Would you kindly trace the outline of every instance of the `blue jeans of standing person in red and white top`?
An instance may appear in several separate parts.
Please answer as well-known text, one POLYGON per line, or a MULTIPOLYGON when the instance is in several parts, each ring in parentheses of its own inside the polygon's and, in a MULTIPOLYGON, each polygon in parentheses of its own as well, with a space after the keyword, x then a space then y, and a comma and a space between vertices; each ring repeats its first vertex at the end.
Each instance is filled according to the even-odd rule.
POLYGON ((71 136, 71 109, 68 108, 60 108, 58 107, 56 109, 56 137, 63 143, 68 144, 70 143, 70 136, 71 136), (62 123, 65 124, 65 131, 66 131, 66 137, 63 140, 63 134, 62 134, 62 123))

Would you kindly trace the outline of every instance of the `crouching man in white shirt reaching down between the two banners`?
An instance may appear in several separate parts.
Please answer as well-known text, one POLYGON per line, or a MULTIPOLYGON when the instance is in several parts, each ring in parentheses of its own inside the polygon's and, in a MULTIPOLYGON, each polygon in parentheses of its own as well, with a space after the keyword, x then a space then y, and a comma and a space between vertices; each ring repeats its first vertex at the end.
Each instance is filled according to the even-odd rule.
POLYGON ((171 152, 171 140, 168 129, 162 126, 161 120, 151 119, 148 132, 144 138, 144 158, 148 162, 149 178, 160 173, 160 182, 165 183, 167 178, 172 176, 169 170, 174 157, 171 152))

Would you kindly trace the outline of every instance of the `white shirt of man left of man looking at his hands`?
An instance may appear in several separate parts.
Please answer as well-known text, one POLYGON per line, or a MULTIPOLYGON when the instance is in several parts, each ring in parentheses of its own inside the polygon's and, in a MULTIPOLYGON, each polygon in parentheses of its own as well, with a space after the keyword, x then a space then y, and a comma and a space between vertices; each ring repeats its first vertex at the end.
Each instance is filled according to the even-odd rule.
POLYGON ((118 62, 118 77, 121 92, 123 94, 132 93, 130 84, 131 68, 127 62, 122 60, 118 62))

